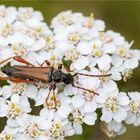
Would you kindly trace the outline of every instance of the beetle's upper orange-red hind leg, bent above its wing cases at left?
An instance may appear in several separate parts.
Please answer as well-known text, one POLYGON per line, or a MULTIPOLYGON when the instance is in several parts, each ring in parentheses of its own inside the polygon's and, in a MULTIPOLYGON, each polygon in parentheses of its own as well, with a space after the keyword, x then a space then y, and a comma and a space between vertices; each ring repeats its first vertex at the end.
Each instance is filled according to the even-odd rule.
POLYGON ((9 61, 9 60, 11 60, 11 59, 16 60, 17 62, 20 62, 20 63, 24 63, 24 64, 26 64, 26 65, 34 66, 34 65, 31 64, 30 62, 28 62, 28 61, 26 61, 25 59, 21 58, 20 56, 9 57, 9 58, 7 58, 7 59, 1 61, 1 62, 0 62, 0 65, 3 64, 3 63, 5 63, 5 62, 7 62, 7 61, 9 61))

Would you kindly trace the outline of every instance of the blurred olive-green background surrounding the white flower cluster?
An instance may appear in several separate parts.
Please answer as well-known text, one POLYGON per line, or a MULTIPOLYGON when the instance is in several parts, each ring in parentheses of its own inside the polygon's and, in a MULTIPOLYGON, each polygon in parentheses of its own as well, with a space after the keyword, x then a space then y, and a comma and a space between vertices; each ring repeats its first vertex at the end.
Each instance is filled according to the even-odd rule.
MULTIPOLYGON (((64 10, 73 10, 74 12, 82 12, 90 15, 94 12, 95 18, 103 19, 106 22, 106 29, 120 32, 129 42, 134 40, 133 48, 140 49, 140 1, 80 1, 80 0, 0 0, 0 4, 6 6, 26 6, 33 7, 43 13, 45 21, 50 24, 51 19, 59 12, 64 10)), ((134 70, 133 77, 127 83, 121 83, 121 91, 140 91, 140 68, 134 70), (123 84, 123 85, 122 85, 123 84)), ((0 120, 0 129, 2 129, 2 120, 0 120)), ((84 133, 81 136, 67 138, 68 140, 107 140, 99 129, 98 122, 96 126, 84 126, 84 133)), ((140 127, 127 126, 127 132, 115 139, 140 140, 140 127)))

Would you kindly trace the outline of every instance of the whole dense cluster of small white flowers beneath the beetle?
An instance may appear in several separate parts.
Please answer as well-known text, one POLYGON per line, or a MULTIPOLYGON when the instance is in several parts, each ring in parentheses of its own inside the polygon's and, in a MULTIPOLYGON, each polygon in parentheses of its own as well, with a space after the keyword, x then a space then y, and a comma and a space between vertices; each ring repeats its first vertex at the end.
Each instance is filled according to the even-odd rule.
MULTIPOLYGON (((1 86, 0 117, 7 123, 0 140, 64 139, 82 134, 82 125, 93 126, 97 118, 109 137, 123 134, 124 123, 139 126, 140 93, 120 92, 117 86, 138 67, 140 51, 132 45, 119 33, 106 31, 94 14, 61 12, 48 27, 32 8, 0 6, 1 61, 20 56, 40 66, 47 60, 54 70, 62 64, 63 73, 79 73, 75 87, 57 83, 50 90, 50 83, 41 81, 1 86), (40 110, 33 115, 36 106, 40 110)), ((10 65, 22 63, 11 60, 10 65)))

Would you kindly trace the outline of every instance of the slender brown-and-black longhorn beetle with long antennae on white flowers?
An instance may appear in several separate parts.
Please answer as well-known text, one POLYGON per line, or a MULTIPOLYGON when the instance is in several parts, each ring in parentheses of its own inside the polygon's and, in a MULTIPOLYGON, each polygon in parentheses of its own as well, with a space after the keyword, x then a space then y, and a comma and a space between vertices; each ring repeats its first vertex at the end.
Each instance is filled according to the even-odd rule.
MULTIPOLYGON (((15 60, 17 62, 26 64, 26 66, 7 66, 6 68, 1 68, 1 71, 5 74, 7 74, 9 77, 0 77, 0 80, 10 80, 15 83, 32 83, 36 81, 41 81, 43 83, 51 83, 49 87, 49 94, 46 98, 46 103, 47 100, 50 96, 51 91, 55 90, 56 88, 56 83, 63 82, 66 85, 71 84, 75 88, 83 89, 88 92, 92 92, 94 94, 94 91, 91 91, 89 89, 77 86, 74 84, 74 77, 77 75, 83 75, 83 76, 89 76, 89 77, 105 77, 105 76, 110 76, 111 74, 107 75, 89 75, 89 74, 83 74, 83 73, 75 73, 72 75, 71 73, 63 73, 61 71, 62 65, 58 66, 57 70, 54 70, 53 67, 50 66, 50 63, 48 60, 45 60, 40 66, 35 66, 32 63, 26 61, 25 59, 15 56, 15 57, 10 57, 8 59, 5 59, 0 62, 0 65, 9 61, 9 60, 15 60), (43 66, 44 64, 47 64, 48 66, 43 66)), ((53 92, 54 94, 54 92, 53 92)))

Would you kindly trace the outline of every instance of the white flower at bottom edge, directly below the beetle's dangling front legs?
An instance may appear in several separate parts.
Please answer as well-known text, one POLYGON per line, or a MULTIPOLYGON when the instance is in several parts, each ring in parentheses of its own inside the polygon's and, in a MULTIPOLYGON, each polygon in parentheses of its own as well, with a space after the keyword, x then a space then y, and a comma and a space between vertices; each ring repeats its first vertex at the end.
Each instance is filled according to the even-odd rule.
POLYGON ((61 118, 59 114, 54 110, 42 109, 40 116, 48 120, 47 133, 49 138, 63 139, 65 136, 71 136, 75 134, 75 131, 71 123, 64 118, 61 118))

